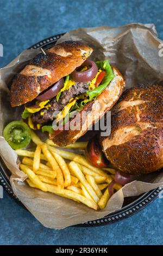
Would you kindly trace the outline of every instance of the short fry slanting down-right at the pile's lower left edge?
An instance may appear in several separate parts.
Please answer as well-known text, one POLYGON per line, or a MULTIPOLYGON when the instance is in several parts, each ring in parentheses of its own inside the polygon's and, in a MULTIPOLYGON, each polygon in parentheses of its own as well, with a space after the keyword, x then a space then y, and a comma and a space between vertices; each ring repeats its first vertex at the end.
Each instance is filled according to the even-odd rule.
POLYGON ((40 188, 40 190, 47 192, 46 185, 39 179, 39 177, 33 172, 33 170, 29 169, 28 166, 25 166, 24 164, 20 164, 21 170, 23 170, 24 173, 28 175, 28 178, 30 181, 33 182, 37 188, 40 188))

